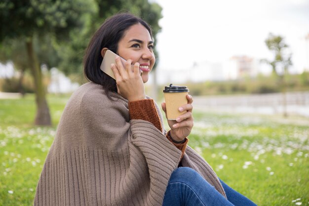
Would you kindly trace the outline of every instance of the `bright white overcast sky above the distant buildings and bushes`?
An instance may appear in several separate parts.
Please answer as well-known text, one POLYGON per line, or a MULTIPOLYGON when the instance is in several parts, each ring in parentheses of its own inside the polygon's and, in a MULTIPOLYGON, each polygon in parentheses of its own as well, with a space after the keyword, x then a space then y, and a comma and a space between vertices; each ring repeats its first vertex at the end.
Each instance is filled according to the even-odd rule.
POLYGON ((309 0, 153 0, 163 8, 156 49, 159 68, 190 68, 233 55, 271 58, 269 33, 290 45, 294 68, 305 61, 309 0))

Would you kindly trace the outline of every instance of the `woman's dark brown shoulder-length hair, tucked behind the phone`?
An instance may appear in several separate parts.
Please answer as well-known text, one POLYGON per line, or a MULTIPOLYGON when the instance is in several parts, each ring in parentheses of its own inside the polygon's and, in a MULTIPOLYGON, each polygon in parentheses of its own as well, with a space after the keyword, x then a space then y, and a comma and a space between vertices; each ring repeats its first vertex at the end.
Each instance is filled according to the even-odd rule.
POLYGON ((118 42, 124 33, 135 24, 142 24, 152 37, 151 27, 141 18, 130 13, 119 13, 107 19, 94 33, 83 58, 85 77, 94 83, 101 84, 109 96, 109 91, 117 91, 116 81, 101 71, 101 50, 104 47, 117 53, 118 42))

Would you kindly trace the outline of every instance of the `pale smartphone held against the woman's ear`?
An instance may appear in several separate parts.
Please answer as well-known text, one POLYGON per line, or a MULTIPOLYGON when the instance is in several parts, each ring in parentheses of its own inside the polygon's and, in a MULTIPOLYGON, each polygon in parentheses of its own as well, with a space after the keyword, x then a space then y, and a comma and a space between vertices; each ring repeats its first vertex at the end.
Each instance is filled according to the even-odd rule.
MULTIPOLYGON (((100 69, 105 72, 107 75, 109 75, 110 77, 112 77, 114 80, 116 80, 114 72, 111 68, 111 64, 116 64, 115 58, 116 56, 118 56, 117 54, 115 54, 113 51, 111 50, 106 50, 105 55, 103 57, 103 61, 101 63, 100 69)), ((119 56, 120 57, 120 56, 119 56)), ((120 57, 120 60, 122 62, 123 67, 125 68, 125 62, 126 60, 123 59, 122 57, 120 57)), ((133 65, 131 65, 132 69, 133 69, 133 65)), ((140 74, 143 74, 143 71, 140 70, 140 74)))

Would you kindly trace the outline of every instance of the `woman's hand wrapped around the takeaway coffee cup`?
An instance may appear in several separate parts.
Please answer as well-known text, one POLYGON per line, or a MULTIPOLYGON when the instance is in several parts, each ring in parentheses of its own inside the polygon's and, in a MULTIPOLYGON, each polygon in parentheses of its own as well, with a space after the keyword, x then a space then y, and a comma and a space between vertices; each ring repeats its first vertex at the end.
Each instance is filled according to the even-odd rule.
MULTIPOLYGON (((181 106, 180 112, 187 110, 187 112, 179 116, 176 120, 167 120, 169 127, 171 128, 170 135, 175 141, 184 140, 191 133, 193 127, 193 116, 192 116, 192 102, 193 98, 187 94, 188 104, 181 106)), ((163 111, 166 116, 166 105, 165 102, 161 104, 163 111)))

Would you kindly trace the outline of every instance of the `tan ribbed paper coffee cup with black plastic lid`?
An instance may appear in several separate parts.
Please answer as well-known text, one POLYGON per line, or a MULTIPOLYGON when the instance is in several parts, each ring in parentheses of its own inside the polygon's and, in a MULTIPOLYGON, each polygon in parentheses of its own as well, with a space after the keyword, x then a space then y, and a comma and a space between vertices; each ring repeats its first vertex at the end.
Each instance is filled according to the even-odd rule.
POLYGON ((179 112, 178 110, 180 106, 188 103, 189 89, 187 86, 176 86, 171 83, 169 86, 165 86, 163 92, 168 120, 176 120, 177 117, 187 112, 179 112))

